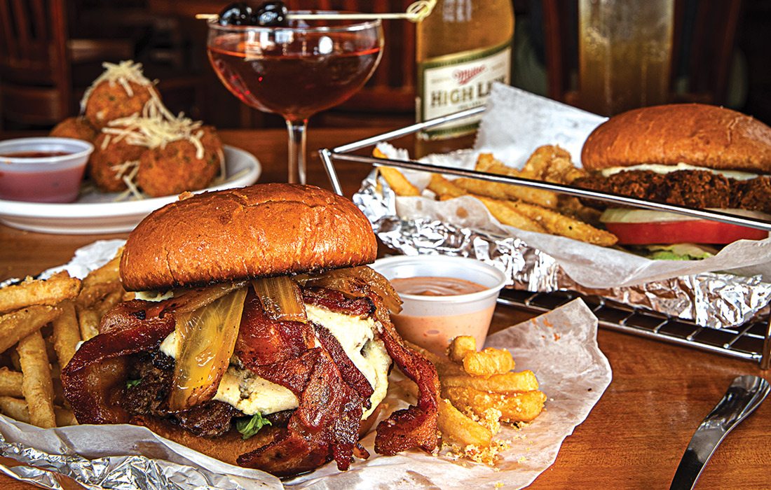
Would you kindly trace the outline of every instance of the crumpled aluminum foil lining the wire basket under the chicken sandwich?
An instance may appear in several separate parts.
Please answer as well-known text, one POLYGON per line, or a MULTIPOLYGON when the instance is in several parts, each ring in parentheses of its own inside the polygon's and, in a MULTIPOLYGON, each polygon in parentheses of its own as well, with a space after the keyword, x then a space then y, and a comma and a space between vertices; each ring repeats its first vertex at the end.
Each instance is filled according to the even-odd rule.
POLYGON ((577 284, 547 253, 517 237, 456 227, 430 219, 397 216, 396 194, 372 172, 353 196, 380 240, 405 255, 473 257, 503 270, 508 287, 551 292, 573 290, 633 304, 704 327, 735 327, 749 321, 771 300, 771 284, 759 277, 703 273, 631 287, 591 289, 577 284))

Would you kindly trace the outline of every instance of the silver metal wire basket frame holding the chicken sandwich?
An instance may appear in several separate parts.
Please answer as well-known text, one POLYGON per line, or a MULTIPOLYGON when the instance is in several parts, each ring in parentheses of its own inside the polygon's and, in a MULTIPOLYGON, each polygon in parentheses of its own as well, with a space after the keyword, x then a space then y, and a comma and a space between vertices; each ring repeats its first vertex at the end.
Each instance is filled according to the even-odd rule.
MULTIPOLYGON (((449 116, 431 119, 426 122, 418 122, 404 128, 395 129, 387 133, 360 139, 353 143, 337 146, 333 149, 320 149, 318 150, 318 153, 319 156, 321 156, 322 163, 324 163, 327 176, 332 184, 332 189, 335 190, 335 193, 340 195, 342 195, 342 186, 340 185, 340 180, 338 179, 335 170, 333 161, 335 159, 365 163, 372 166, 395 166, 402 169, 444 173, 454 176, 489 180, 490 182, 509 183, 516 186, 550 190, 552 192, 570 196, 586 197, 608 203, 621 204, 623 206, 641 207, 648 210, 665 211, 683 216, 736 224, 742 227, 756 228, 758 230, 771 232, 771 223, 746 216, 736 216, 712 210, 700 210, 675 204, 655 203, 634 197, 621 196, 614 193, 602 193, 595 190, 547 183, 540 180, 522 179, 496 173, 477 172, 476 170, 453 169, 446 166, 421 163, 416 160, 382 159, 373 156, 350 154, 356 150, 374 146, 377 143, 388 142, 392 139, 417 133, 421 129, 438 126, 445 122, 477 116, 483 113, 484 110, 484 107, 466 109, 461 112, 450 114, 449 116)), ((594 313, 598 316, 601 327, 628 334, 636 334, 642 337, 655 338, 670 344, 694 347, 703 351, 723 354, 729 357, 739 357, 749 361, 757 361, 760 364, 760 368, 764 370, 771 366, 771 316, 752 319, 739 327, 714 329, 701 327, 692 321, 683 321, 679 318, 658 314, 641 307, 618 304, 601 297, 584 297, 581 294, 571 291, 534 293, 530 291, 505 290, 501 295, 499 302, 532 313, 543 313, 554 307, 561 306, 561 304, 564 304, 575 297, 583 297, 584 300, 588 302, 592 310, 594 310, 594 313), (712 334, 713 332, 717 332, 718 334, 712 334)))

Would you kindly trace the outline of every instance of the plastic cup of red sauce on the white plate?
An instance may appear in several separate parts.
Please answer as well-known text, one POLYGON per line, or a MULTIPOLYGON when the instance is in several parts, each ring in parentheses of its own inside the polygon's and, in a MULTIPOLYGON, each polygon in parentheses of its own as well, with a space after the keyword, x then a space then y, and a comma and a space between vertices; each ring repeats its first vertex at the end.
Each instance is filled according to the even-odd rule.
POLYGON ((72 203, 93 149, 87 141, 49 136, 0 142, 0 199, 72 203))

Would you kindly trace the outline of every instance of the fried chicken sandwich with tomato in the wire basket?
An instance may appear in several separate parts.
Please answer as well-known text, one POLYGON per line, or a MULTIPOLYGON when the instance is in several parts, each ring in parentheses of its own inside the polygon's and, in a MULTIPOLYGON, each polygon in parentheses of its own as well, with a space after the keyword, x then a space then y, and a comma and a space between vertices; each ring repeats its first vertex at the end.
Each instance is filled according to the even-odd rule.
MULTIPOLYGON (((574 182, 659 203, 771 219, 771 128, 717 106, 672 104, 611 117, 589 135, 574 182)), ((763 230, 675 213, 607 206, 601 221, 619 244, 726 244, 763 230)))

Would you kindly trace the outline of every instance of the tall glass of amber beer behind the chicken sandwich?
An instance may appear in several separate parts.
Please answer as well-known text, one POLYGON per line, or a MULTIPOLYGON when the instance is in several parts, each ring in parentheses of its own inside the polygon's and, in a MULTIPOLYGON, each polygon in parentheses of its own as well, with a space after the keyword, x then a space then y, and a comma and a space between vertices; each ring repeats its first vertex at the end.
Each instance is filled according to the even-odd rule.
POLYGON ((579 105, 612 116, 668 102, 674 0, 579 0, 579 105))

